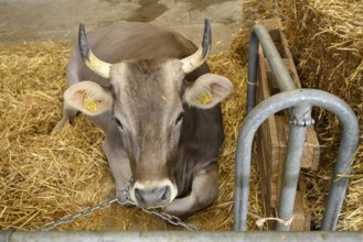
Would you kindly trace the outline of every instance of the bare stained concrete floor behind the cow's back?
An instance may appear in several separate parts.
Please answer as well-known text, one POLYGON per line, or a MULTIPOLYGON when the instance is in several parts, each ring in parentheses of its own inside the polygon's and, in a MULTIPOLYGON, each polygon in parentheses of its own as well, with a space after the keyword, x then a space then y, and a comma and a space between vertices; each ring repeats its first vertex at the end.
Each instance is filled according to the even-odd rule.
POLYGON ((0 0, 0 46, 44 38, 75 40, 87 30, 119 21, 168 26, 199 44, 203 20, 212 23, 214 54, 228 48, 243 0, 0 0))

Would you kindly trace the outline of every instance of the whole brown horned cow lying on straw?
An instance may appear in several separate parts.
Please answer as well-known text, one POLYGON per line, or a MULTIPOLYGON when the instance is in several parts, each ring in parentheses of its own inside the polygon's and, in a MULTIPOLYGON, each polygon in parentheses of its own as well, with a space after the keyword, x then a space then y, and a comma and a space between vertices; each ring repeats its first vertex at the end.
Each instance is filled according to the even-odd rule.
POLYGON ((78 111, 103 129, 103 150, 122 200, 132 177, 129 196, 140 207, 186 217, 211 205, 224 139, 220 102, 233 87, 204 63, 209 21, 200 48, 147 23, 114 24, 88 38, 81 24, 78 47, 54 131, 78 111))

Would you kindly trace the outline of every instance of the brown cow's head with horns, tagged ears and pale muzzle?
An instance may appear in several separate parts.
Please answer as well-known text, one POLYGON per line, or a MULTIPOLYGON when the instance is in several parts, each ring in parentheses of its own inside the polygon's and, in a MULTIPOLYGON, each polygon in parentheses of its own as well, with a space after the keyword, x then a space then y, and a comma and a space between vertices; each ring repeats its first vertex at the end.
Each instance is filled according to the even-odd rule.
MULTIPOLYGON (((183 122, 183 103, 209 109, 231 91, 228 79, 205 74, 194 82, 184 81, 206 59, 211 28, 205 21, 202 47, 183 59, 135 59, 108 64, 88 48, 79 25, 79 52, 96 74, 110 79, 109 88, 82 81, 65 91, 68 105, 87 116, 110 111, 124 141, 134 176, 131 199, 141 207, 163 207, 178 195, 171 177, 183 122)), ((147 43, 146 43, 147 44, 147 43)))

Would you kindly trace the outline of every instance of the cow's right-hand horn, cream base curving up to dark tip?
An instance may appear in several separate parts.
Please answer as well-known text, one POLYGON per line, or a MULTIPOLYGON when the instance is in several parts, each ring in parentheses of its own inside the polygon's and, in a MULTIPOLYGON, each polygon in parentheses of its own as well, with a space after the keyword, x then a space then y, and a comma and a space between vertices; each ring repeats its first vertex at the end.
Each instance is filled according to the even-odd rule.
POLYGON ((205 19, 202 46, 193 55, 190 55, 181 59, 181 62, 183 63, 182 66, 183 72, 185 74, 189 74, 194 69, 196 69, 200 65, 202 65, 211 52, 211 46, 212 46, 211 24, 210 24, 210 20, 205 19))

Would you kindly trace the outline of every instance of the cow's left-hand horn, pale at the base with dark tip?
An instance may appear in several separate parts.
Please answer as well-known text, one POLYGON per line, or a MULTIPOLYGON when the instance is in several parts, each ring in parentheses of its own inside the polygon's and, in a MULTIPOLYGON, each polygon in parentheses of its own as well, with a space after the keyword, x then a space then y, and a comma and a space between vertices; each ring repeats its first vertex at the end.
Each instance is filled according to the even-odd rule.
POLYGON ((78 48, 83 62, 89 69, 104 78, 109 78, 109 69, 111 64, 100 61, 92 53, 86 37, 85 25, 83 23, 79 23, 78 48))

